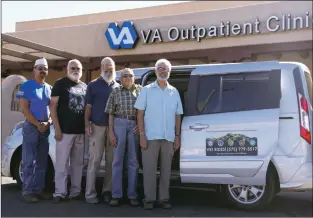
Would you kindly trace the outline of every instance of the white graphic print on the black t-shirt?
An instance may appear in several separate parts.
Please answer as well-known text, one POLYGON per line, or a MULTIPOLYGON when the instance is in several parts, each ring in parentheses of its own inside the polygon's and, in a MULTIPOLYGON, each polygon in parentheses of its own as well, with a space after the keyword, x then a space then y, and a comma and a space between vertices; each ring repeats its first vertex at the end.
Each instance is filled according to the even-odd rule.
POLYGON ((77 114, 84 112, 86 90, 83 88, 72 87, 69 89, 69 108, 77 114))

